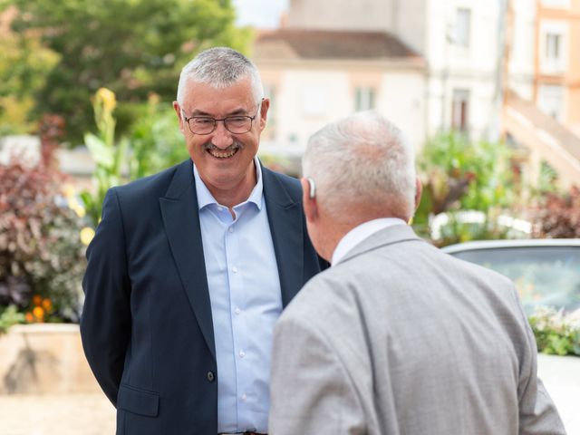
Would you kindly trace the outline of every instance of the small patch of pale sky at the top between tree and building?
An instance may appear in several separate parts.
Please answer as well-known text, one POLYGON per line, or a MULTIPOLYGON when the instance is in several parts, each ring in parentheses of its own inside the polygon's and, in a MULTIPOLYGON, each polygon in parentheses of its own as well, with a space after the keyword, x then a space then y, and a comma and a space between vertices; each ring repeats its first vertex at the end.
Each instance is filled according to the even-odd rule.
POLYGON ((233 0, 237 8, 237 24, 253 25, 260 29, 278 27, 280 14, 290 0, 233 0))

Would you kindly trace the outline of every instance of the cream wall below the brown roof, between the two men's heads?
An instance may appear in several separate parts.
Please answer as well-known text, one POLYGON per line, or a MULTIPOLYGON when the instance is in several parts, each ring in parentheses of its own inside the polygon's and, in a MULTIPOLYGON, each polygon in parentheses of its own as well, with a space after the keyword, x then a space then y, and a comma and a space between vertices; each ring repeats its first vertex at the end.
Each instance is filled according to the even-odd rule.
POLYGON ((375 109, 397 124, 416 148, 425 139, 425 78, 419 69, 363 63, 260 64, 266 89, 274 90, 262 151, 300 155, 325 123, 355 111, 357 88, 372 88, 375 109))

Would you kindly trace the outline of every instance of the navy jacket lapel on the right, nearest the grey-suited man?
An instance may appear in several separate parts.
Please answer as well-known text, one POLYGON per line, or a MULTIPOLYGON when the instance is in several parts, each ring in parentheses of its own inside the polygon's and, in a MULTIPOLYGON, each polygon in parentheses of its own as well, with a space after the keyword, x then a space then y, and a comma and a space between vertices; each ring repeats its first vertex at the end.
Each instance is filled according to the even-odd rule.
POLYGON ((275 260, 280 277, 282 304, 286 306, 304 284, 304 228, 302 208, 288 193, 274 172, 262 167, 264 197, 275 260))

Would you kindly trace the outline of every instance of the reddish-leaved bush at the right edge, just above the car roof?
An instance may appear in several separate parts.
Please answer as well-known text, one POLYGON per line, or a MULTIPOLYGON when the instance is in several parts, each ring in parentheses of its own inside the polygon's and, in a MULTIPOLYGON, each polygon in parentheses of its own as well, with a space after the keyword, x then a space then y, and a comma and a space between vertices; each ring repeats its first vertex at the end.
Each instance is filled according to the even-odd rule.
POLYGON ((580 237, 580 189, 546 193, 533 213, 533 223, 534 237, 580 237))

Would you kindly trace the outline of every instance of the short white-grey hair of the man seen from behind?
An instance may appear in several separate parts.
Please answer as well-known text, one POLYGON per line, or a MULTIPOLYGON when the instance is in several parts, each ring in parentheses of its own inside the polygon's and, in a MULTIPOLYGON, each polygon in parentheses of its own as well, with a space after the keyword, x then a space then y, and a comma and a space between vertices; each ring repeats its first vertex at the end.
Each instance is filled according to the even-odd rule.
POLYGON ((304 177, 314 179, 318 201, 335 218, 356 205, 411 218, 414 160, 414 150, 397 127, 375 111, 363 111, 314 133, 302 164, 304 177))

